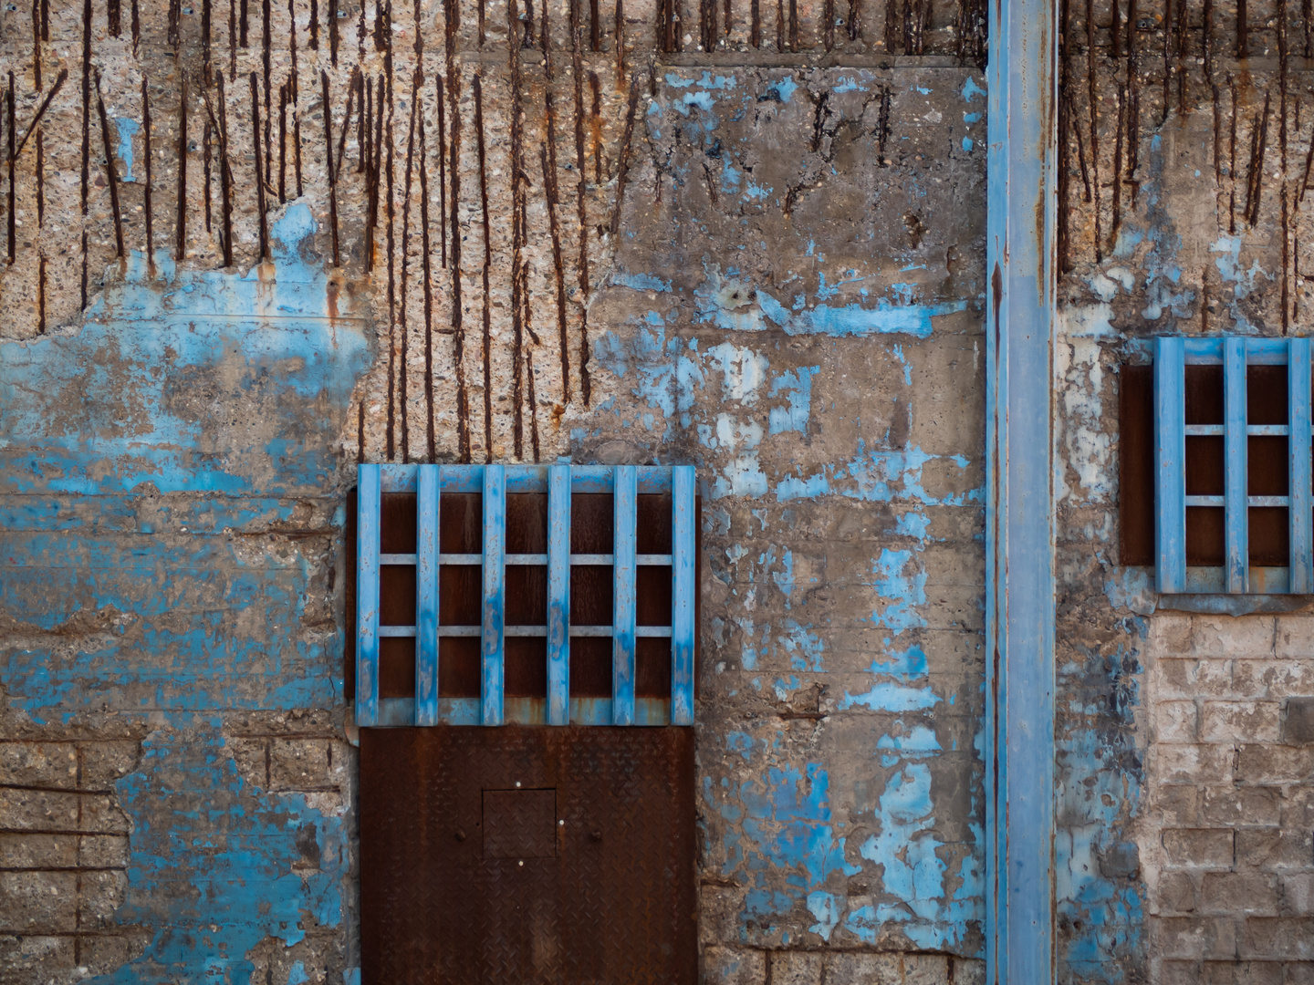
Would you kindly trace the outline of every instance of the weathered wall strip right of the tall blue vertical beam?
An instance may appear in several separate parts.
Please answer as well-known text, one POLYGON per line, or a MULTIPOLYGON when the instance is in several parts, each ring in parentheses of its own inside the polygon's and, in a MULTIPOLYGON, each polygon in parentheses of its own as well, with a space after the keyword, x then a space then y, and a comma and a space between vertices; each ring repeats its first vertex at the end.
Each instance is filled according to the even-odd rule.
POLYGON ((1188 3, 1129 35, 1122 5, 1116 49, 1114 9, 1088 11, 1060 81, 1062 977, 1307 981, 1307 749, 1284 722, 1314 693, 1311 617, 1160 608, 1120 559, 1117 420, 1138 339, 1307 334, 1314 25, 1188 3))

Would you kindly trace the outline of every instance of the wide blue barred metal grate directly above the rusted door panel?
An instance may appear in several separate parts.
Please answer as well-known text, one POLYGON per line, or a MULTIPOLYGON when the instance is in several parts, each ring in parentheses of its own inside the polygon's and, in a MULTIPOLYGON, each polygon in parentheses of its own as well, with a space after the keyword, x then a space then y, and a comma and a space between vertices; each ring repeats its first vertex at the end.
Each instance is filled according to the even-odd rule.
MULTIPOLYGON (((505 722, 565 725, 691 725, 694 721, 695 557, 696 500, 692 466, 531 466, 531 465, 361 465, 357 487, 356 561, 356 722, 371 725, 502 725, 505 722), (414 496, 414 532, 405 549, 385 548, 384 499, 414 496), (474 542, 449 550, 445 544, 444 500, 477 495, 481 516, 474 542), (509 552, 509 496, 545 495, 545 542, 536 550, 509 552), (608 541, 602 550, 572 548, 572 503, 604 495, 608 541), (641 553, 646 531, 639 502, 665 496, 666 546, 641 553), (473 549, 472 549, 473 548, 473 549), (477 578, 478 615, 474 620, 440 619, 455 608, 448 584, 474 588, 476 582, 444 580, 443 573, 464 570, 477 578), (541 612, 532 623, 509 623, 509 612, 526 611, 524 598, 535 595, 524 573, 540 571, 541 612), (573 619, 572 582, 581 571, 606 573, 610 623, 573 619), (668 574, 661 574, 665 570, 668 574), (654 584, 653 577, 658 583, 654 584), (665 582, 665 584, 661 584, 665 582), (381 591, 381 584, 389 588, 381 591), (401 586, 401 588, 398 588, 401 586), (649 591, 640 598, 640 588, 649 591), (398 623, 381 619, 384 611, 403 612, 398 623), (658 621, 640 619, 653 600, 669 595, 658 621), (442 598, 440 598, 442 596, 442 598), (477 641, 476 691, 443 692, 449 670, 440 667, 443 641, 477 641), (607 697, 579 695, 572 688, 572 640, 611 642, 607 697), (381 645, 407 640, 414 645, 413 695, 381 693, 381 645), (509 641, 530 640, 545 646, 545 676, 536 695, 509 692, 509 641), (636 691, 636 651, 646 641, 669 640, 669 686, 662 695, 636 691), (476 696, 477 695, 477 696, 476 696)), ((578 503, 576 503, 578 506, 578 503)), ((472 517, 473 519, 473 517, 472 517)), ((602 524, 598 524, 602 525, 602 524)), ((530 602, 535 602, 531 599, 530 602)), ((530 605, 528 608, 535 608, 530 605)), ((595 613, 597 615, 597 613, 595 613)), ((514 646, 512 646, 514 649, 514 646)), ((511 670, 516 672, 522 665, 511 670)), ((541 671, 540 666, 537 670, 541 671)), ((528 675, 535 676, 530 667, 528 675)))

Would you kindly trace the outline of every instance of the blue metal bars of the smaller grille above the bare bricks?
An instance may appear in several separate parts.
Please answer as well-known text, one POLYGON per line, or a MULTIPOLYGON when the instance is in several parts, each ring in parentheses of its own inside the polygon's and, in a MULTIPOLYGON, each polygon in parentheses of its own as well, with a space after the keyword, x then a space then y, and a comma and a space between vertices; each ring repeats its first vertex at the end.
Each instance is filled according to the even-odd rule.
POLYGON ((1155 580, 1160 592, 1309 594, 1311 571, 1310 499, 1310 340, 1184 339, 1154 340, 1155 422, 1155 580), (1221 365, 1223 423, 1187 424, 1188 365, 1221 365), (1247 422, 1247 366, 1285 365, 1286 424, 1247 422), (1187 439, 1223 439, 1223 495, 1187 495, 1187 439), (1286 437, 1288 495, 1248 495, 1250 439, 1286 437), (1187 510, 1223 511, 1222 567, 1187 566, 1187 510), (1259 567, 1250 557, 1250 510, 1285 507, 1289 566, 1259 567))

